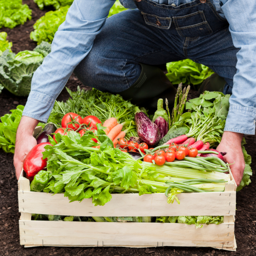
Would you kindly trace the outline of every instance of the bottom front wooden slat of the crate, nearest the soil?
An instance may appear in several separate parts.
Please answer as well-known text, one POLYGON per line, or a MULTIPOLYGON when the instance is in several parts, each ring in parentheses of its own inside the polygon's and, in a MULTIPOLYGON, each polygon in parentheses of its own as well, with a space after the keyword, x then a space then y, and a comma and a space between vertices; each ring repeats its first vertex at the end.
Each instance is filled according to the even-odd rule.
POLYGON ((20 220, 20 244, 234 247, 234 224, 119 223, 20 220))

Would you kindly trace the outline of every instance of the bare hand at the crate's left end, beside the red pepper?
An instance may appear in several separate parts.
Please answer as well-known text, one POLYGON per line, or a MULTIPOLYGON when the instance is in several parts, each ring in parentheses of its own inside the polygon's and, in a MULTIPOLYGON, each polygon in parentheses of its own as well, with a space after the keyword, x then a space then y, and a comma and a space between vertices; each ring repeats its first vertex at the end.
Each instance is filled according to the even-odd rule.
POLYGON ((22 116, 20 120, 16 134, 13 158, 17 180, 19 180, 20 173, 23 168, 23 162, 28 155, 28 152, 37 144, 36 139, 33 137, 33 131, 38 123, 38 120, 28 116, 22 116))

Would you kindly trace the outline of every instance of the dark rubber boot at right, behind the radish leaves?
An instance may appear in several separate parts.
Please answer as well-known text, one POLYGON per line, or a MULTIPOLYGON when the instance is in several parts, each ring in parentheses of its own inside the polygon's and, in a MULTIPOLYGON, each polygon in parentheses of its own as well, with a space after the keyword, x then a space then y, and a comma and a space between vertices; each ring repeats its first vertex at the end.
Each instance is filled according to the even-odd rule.
POLYGON ((214 73, 204 80, 198 92, 200 94, 204 91, 222 92, 225 84, 225 79, 223 77, 220 77, 217 73, 214 73))

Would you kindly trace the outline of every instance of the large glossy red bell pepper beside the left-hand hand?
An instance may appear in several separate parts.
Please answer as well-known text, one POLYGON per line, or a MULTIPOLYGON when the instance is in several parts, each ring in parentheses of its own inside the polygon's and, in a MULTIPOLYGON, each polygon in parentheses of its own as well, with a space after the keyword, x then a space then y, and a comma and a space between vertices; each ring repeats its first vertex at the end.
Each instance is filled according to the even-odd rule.
POLYGON ((45 145, 51 145, 49 142, 39 143, 33 147, 25 158, 23 169, 26 172, 26 176, 29 180, 41 170, 44 170, 47 164, 47 158, 43 159, 42 152, 45 151, 45 145))

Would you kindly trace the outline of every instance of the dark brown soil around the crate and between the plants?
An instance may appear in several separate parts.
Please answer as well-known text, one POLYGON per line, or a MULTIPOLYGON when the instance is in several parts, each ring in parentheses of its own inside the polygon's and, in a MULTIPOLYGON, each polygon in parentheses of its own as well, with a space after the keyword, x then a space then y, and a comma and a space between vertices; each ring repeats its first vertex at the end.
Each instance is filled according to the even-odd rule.
MULTIPOLYGON (((33 50, 36 43, 29 39, 29 34, 33 30, 34 22, 39 19, 48 10, 40 11, 33 0, 24 0, 23 3, 29 5, 32 9, 33 19, 28 21, 23 26, 18 26, 14 29, 1 29, 8 33, 8 40, 13 42, 12 51, 17 53, 23 50, 33 50)), ((80 85, 84 89, 83 84, 72 75, 67 83, 67 87, 71 90, 76 90, 77 85, 80 85)), ((189 98, 197 97, 197 92, 191 90, 189 98)), ((66 100, 68 93, 64 89, 58 100, 66 100)), ((25 105, 27 98, 16 97, 6 90, 0 94, 0 116, 6 113, 10 113, 10 109, 16 108, 18 104, 25 105)), ((193 248, 193 247, 163 247, 163 248, 122 248, 122 247, 103 247, 103 248, 83 248, 83 247, 32 247, 24 248, 20 245, 19 240, 19 218, 20 213, 18 210, 18 186, 15 177, 15 170, 13 166, 13 155, 11 153, 4 153, 0 149, 0 256, 2 255, 19 255, 19 256, 98 256, 98 255, 109 255, 109 256, 138 256, 138 255, 188 255, 188 256, 199 256, 199 255, 255 255, 256 246, 256 191, 255 191, 255 170, 256 163, 255 152, 256 152, 256 138, 255 136, 245 136, 246 141, 249 142, 246 145, 247 152, 252 156, 252 170, 253 176, 251 178, 252 183, 245 187, 243 190, 237 193, 237 211, 236 211, 236 222, 235 222, 235 235, 237 243, 237 251, 229 252, 223 250, 216 250, 212 248, 193 248)))

